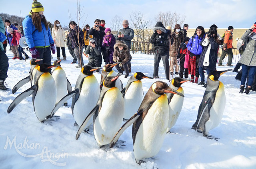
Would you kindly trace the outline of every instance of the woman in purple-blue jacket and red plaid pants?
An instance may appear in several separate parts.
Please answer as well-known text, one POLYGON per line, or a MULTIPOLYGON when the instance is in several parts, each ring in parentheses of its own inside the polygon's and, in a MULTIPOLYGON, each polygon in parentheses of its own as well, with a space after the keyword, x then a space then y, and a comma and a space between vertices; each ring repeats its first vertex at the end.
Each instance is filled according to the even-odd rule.
POLYGON ((194 83, 194 77, 196 76, 195 83, 198 83, 198 61, 203 51, 203 47, 200 42, 205 36, 204 27, 198 26, 194 35, 188 41, 188 51, 190 51, 190 57, 188 61, 188 74, 191 75, 192 83, 194 83))

